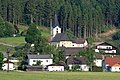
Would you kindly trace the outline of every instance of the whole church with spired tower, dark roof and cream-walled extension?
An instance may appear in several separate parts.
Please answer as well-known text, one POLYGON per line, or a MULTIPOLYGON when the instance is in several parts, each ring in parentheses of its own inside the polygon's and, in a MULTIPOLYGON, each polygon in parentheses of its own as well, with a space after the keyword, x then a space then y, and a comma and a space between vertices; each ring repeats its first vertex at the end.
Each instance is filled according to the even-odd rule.
POLYGON ((52 40, 51 44, 56 45, 57 47, 86 47, 88 42, 83 38, 73 38, 70 39, 67 33, 62 33, 61 28, 59 27, 59 22, 57 16, 55 15, 54 23, 51 30, 52 40))

